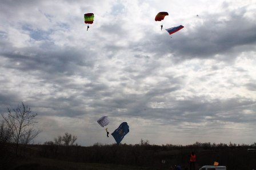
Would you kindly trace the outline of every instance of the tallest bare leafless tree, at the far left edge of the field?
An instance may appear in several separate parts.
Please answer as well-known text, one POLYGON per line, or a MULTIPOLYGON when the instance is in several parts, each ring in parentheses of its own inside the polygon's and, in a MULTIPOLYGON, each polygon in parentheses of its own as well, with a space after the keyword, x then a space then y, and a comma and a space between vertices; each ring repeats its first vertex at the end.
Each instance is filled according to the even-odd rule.
POLYGON ((16 143, 16 155, 18 155, 19 144, 28 144, 31 140, 38 136, 40 129, 34 129, 35 117, 29 106, 18 105, 17 108, 7 108, 7 116, 3 119, 11 129, 12 138, 16 143))

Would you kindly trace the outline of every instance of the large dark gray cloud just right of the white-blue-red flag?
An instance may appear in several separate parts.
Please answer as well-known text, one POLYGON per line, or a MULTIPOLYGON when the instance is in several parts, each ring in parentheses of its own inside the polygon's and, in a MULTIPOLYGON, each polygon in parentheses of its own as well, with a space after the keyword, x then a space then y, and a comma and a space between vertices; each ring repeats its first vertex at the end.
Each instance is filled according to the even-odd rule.
POLYGON ((225 60, 233 60, 243 51, 255 50, 256 25, 244 17, 245 9, 240 13, 237 10, 224 14, 205 14, 202 23, 193 29, 184 25, 183 30, 170 35, 149 35, 150 40, 144 41, 142 51, 158 51, 158 55, 173 54, 175 60, 192 58, 215 58, 216 55, 225 55, 225 60), (224 17, 227 19, 219 19, 224 17), (164 50, 163 50, 164 49, 164 50))

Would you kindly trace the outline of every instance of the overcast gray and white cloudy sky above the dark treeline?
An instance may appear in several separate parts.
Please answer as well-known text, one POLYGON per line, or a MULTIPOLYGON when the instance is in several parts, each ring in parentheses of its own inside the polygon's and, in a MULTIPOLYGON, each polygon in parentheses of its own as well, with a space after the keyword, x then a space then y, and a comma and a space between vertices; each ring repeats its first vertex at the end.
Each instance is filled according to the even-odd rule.
POLYGON ((41 144, 65 132, 115 143, 103 115, 110 133, 129 124, 126 144, 253 144, 255 11, 256 0, 1 0, 0 112, 30 106, 41 144), (155 22, 159 11, 169 16, 155 22))

